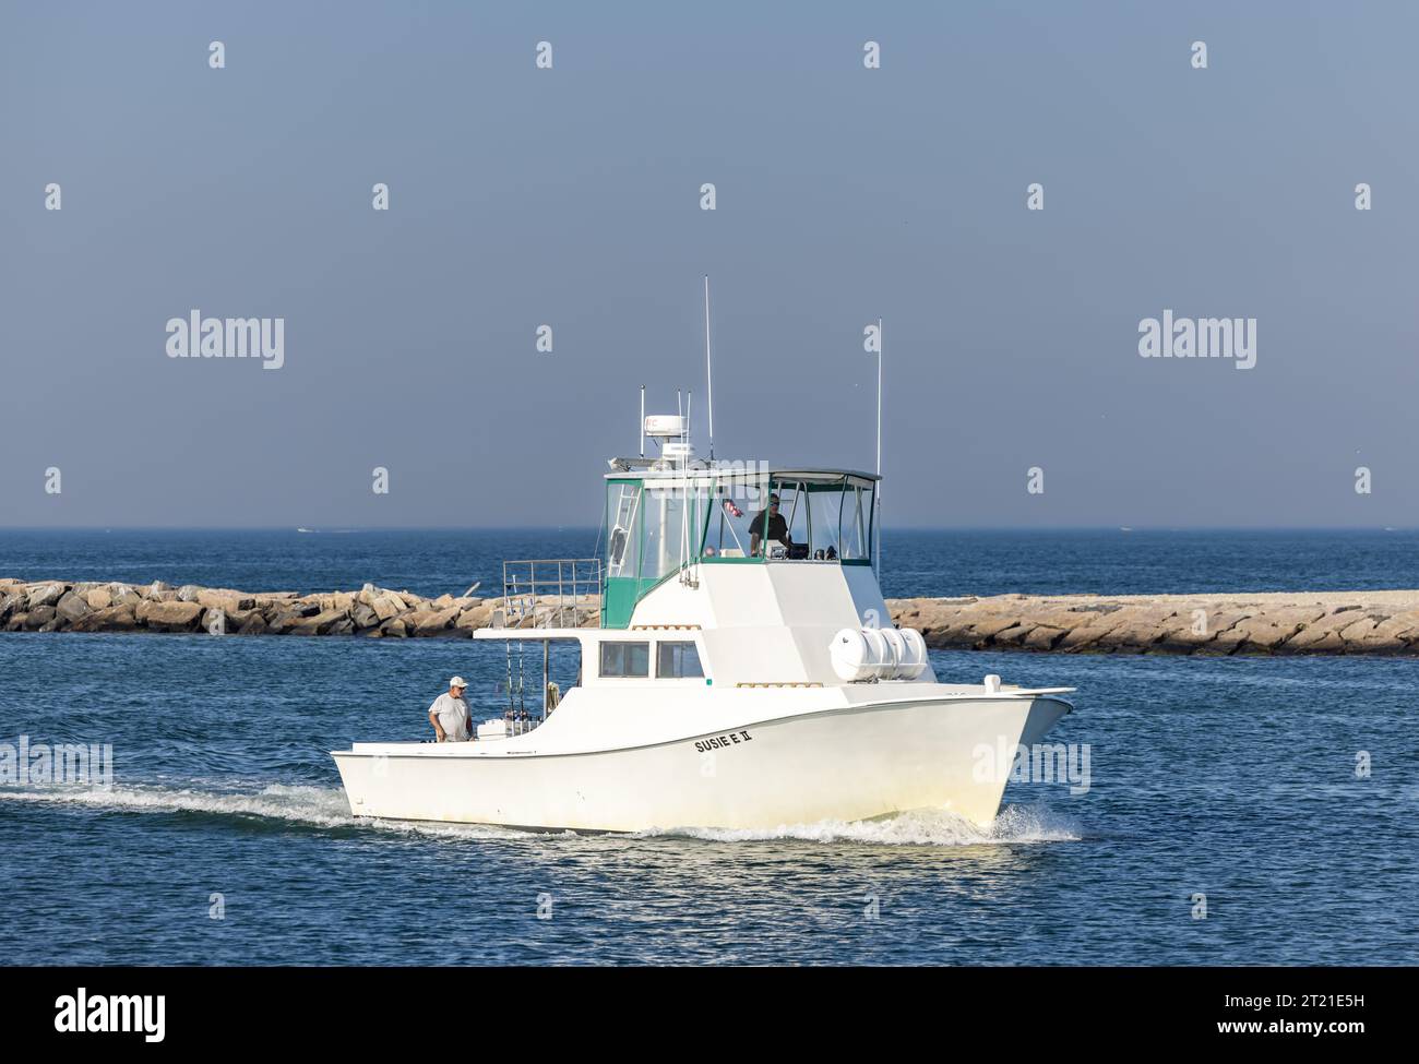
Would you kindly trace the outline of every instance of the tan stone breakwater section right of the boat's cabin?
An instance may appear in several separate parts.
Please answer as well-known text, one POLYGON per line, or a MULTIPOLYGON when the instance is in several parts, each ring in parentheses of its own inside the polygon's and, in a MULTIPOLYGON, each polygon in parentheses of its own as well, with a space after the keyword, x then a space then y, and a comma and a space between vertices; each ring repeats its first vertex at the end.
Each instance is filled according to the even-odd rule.
POLYGON ((1103 654, 1419 654, 1419 592, 895 599, 929 647, 1103 654))

